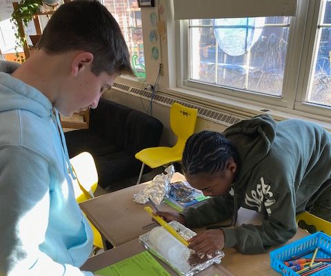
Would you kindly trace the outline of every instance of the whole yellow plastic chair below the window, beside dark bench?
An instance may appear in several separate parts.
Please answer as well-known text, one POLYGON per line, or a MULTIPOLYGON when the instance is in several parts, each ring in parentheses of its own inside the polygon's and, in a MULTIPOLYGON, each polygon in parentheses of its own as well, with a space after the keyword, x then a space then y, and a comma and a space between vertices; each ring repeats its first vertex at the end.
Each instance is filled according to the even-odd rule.
POLYGON ((177 135, 177 143, 173 147, 150 147, 136 153, 135 157, 143 162, 137 184, 140 183, 145 164, 154 169, 181 160, 185 142, 194 133, 197 114, 197 109, 184 107, 179 103, 172 104, 170 127, 177 135))

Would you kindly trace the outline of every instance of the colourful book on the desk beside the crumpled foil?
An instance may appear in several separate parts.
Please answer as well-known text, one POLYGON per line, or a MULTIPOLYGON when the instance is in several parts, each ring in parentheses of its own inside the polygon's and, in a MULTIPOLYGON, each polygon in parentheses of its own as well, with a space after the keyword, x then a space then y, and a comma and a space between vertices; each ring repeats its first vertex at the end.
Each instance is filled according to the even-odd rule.
POLYGON ((210 198, 203 195, 202 191, 194 189, 186 181, 178 181, 170 184, 168 198, 164 198, 164 202, 179 212, 182 212, 188 206, 197 204, 203 200, 210 198))

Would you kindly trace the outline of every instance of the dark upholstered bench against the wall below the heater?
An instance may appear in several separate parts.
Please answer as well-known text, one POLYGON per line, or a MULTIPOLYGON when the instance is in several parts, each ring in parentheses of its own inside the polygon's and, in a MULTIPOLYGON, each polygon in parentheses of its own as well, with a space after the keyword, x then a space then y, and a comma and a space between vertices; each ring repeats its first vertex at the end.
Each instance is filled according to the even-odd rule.
POLYGON ((97 109, 90 110, 89 128, 68 131, 65 136, 70 158, 83 151, 92 154, 99 185, 106 189, 139 176, 141 162, 134 154, 158 146, 162 129, 157 118, 101 98, 97 109))

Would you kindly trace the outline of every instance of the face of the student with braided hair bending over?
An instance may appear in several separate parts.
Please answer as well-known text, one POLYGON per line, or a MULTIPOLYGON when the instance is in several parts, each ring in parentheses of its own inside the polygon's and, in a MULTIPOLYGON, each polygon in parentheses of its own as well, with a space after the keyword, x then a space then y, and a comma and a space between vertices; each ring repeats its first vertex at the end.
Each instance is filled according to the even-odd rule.
POLYGON ((193 188, 201 190, 203 195, 220 196, 230 191, 236 169, 237 164, 234 163, 233 167, 228 166, 217 173, 185 174, 185 178, 193 188))

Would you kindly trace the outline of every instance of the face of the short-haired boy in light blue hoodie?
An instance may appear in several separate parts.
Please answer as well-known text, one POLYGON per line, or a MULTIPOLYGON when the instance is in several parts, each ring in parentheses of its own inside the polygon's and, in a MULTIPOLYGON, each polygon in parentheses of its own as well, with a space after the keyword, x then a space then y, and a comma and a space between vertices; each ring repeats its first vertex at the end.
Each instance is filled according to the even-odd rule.
POLYGON ((119 74, 102 72, 96 76, 91 71, 91 64, 84 65, 83 70, 66 85, 61 102, 56 107, 62 116, 70 117, 74 112, 88 108, 97 108, 103 92, 112 87, 119 74))

